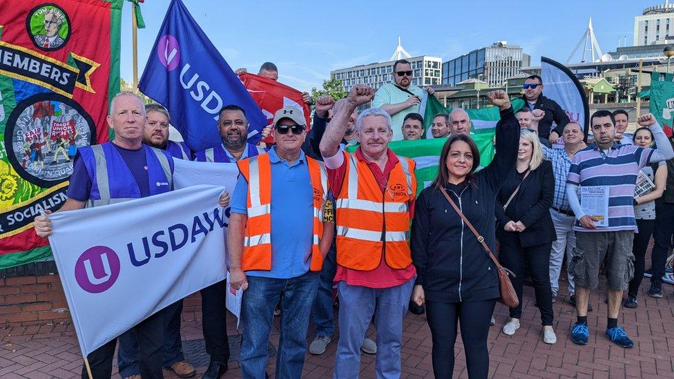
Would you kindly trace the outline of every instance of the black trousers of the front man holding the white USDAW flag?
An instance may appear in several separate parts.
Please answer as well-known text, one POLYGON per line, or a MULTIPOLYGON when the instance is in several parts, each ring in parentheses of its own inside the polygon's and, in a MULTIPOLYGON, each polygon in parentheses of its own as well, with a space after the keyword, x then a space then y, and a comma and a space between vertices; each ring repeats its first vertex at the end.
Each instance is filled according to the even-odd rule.
MULTIPOLYGON (((138 336, 140 375, 143 379, 162 379, 164 363, 164 312, 159 311, 135 327, 138 336)), ((109 379, 113 371, 113 356, 117 338, 92 351, 87 356, 93 379, 109 379)), ((86 366, 82 366, 82 379, 89 379, 86 366)))

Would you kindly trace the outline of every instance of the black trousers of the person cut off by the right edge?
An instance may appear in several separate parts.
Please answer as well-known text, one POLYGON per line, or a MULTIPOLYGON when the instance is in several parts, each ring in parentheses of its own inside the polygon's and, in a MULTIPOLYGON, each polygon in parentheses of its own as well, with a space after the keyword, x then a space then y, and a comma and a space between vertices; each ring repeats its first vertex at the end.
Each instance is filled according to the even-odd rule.
MULTIPOLYGON (((639 231, 641 231, 639 229, 639 231)), ((651 282, 662 283, 664 265, 667 255, 672 249, 672 237, 674 236, 674 203, 655 202, 655 230, 653 231, 653 251, 651 255, 651 267, 653 276, 651 282)))

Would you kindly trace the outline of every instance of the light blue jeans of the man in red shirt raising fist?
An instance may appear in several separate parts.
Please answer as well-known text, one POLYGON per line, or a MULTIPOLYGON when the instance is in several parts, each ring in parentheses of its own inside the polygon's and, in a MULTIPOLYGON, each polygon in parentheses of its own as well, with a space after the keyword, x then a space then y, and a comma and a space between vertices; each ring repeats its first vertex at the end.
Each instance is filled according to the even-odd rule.
POLYGON ((400 378, 403 318, 412 297, 414 279, 386 289, 337 283, 339 342, 335 355, 334 378, 358 378, 360 346, 375 309, 377 378, 400 378))

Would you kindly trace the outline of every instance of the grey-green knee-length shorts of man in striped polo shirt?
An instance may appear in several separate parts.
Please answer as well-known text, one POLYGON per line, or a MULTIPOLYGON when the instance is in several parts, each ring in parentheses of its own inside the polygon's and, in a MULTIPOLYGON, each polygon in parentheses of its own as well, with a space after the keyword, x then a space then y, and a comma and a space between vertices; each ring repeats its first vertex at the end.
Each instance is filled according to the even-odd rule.
POLYGON ((569 271, 576 286, 596 289, 599 267, 606 257, 606 285, 615 291, 628 288, 634 276, 634 231, 576 232, 569 271))

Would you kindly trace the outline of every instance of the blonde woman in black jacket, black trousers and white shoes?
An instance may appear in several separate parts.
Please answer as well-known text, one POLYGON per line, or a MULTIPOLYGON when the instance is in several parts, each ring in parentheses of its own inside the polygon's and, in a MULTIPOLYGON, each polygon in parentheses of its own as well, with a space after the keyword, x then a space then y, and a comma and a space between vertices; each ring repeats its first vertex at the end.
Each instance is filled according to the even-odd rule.
POLYGON ((557 237, 550 206, 555 196, 555 177, 550 161, 543 160, 541 142, 535 132, 521 130, 517 165, 505 177, 496 199, 496 236, 501 243, 499 260, 515 274, 512 286, 519 306, 510 309, 510 320, 503 326, 503 333, 512 336, 519 329, 526 271, 534 283, 536 304, 541 311, 543 342, 554 344, 557 337, 552 329, 550 249, 557 237))

